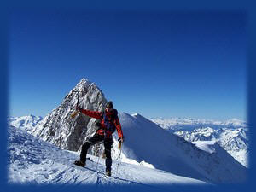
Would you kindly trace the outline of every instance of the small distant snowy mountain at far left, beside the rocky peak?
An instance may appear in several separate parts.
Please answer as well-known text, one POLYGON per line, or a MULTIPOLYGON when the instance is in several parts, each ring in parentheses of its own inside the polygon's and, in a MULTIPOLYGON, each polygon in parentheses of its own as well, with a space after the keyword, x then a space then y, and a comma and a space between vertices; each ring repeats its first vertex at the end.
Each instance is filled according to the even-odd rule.
POLYGON ((28 115, 22 117, 10 117, 9 125, 31 131, 43 118, 40 116, 28 115))

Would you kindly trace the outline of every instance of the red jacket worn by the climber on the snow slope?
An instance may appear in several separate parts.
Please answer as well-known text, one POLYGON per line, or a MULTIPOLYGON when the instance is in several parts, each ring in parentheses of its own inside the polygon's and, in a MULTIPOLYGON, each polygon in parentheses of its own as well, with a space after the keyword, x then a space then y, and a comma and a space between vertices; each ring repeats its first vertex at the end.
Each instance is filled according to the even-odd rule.
MULTIPOLYGON (((99 129, 97 131, 97 133, 99 135, 104 135, 105 132, 107 134, 107 137, 110 137, 112 135, 111 131, 107 131, 107 127, 104 123, 104 118, 103 118, 103 113, 102 112, 96 112, 96 111, 90 111, 90 110, 86 110, 86 109, 82 109, 80 108, 80 112, 86 114, 87 116, 91 117, 91 118, 95 118, 95 119, 101 119, 101 125, 102 125, 102 129, 99 129)), ((111 117, 108 117, 109 119, 111 117)), ((118 135, 119 137, 124 137, 123 135, 123 131, 119 122, 119 117, 116 115, 116 117, 112 117, 113 119, 113 125, 115 126, 116 130, 118 131, 118 135)))

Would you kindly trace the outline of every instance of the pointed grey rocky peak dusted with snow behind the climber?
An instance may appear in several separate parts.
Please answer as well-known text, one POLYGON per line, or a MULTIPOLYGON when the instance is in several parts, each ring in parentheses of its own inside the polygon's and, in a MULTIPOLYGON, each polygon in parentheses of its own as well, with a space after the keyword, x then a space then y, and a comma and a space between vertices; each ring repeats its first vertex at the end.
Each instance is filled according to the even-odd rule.
POLYGON ((96 119, 90 119, 82 113, 71 118, 78 101, 78 93, 73 91, 81 91, 79 92, 80 108, 102 111, 107 103, 102 90, 96 84, 81 79, 79 84, 65 96, 60 106, 53 109, 29 132, 59 148, 78 151, 84 140, 96 131, 96 119))

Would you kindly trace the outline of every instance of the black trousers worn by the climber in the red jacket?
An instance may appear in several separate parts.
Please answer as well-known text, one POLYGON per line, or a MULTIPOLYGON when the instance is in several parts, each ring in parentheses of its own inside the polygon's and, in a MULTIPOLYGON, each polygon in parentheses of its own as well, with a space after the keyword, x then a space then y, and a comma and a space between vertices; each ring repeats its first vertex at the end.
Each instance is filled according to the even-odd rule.
POLYGON ((95 134, 93 137, 90 137, 90 139, 86 141, 82 146, 80 160, 85 163, 88 148, 90 148, 91 145, 94 145, 95 143, 102 142, 102 141, 104 141, 104 148, 105 148, 105 154, 106 154, 106 171, 111 171, 111 165, 112 165, 111 146, 113 143, 112 138, 105 138, 104 136, 98 135, 98 134, 95 134))

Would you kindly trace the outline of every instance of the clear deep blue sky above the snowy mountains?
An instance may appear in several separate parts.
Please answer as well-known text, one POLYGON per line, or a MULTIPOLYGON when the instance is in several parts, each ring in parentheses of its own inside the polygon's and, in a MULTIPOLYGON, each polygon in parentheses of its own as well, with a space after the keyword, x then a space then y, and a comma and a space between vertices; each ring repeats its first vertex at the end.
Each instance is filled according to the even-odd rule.
POLYGON ((9 115, 44 117, 85 78, 119 112, 245 120, 246 24, 236 12, 15 12, 9 115))

